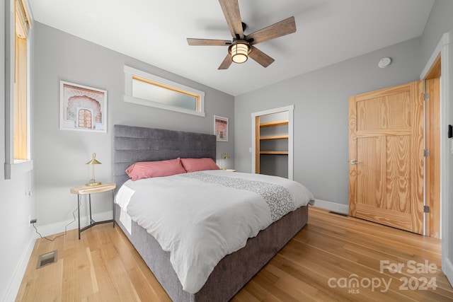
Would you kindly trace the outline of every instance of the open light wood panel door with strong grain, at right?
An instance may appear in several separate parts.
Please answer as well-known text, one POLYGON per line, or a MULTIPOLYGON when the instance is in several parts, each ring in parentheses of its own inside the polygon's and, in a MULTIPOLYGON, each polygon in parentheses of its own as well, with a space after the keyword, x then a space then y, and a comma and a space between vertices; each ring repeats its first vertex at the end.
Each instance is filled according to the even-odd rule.
POLYGON ((349 100, 349 212, 423 233, 423 82, 349 100))

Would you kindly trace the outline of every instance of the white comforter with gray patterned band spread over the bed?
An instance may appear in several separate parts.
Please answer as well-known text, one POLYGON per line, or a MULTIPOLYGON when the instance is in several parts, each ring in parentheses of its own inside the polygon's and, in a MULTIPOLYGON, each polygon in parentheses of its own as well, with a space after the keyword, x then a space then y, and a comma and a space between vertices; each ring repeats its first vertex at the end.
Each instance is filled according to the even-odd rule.
POLYGON ((209 170, 128 180, 115 202, 171 252, 183 289, 195 294, 225 255, 311 200, 292 180, 209 170))

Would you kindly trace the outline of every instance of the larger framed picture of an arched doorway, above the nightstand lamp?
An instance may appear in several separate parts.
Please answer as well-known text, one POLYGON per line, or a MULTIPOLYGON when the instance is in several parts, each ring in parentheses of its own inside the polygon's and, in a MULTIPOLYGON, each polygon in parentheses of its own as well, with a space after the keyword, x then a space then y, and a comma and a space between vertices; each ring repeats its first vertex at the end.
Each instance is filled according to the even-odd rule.
POLYGON ((59 129, 107 132, 107 91, 59 81, 59 129))

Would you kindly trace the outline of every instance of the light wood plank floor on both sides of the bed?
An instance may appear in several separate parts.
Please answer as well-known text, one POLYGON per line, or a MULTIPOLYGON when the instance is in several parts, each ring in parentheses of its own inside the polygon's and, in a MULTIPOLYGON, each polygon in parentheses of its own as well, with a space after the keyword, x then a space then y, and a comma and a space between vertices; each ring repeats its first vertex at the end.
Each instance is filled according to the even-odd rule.
MULTIPOLYGON (((107 223, 81 240, 76 231, 37 240, 16 301, 170 298, 120 228, 107 223), (52 250, 58 262, 35 269, 38 255, 52 250)), ((232 301, 453 301, 453 289, 440 270, 440 240, 310 207, 309 223, 232 301), (404 267, 381 269, 381 261, 404 267)))

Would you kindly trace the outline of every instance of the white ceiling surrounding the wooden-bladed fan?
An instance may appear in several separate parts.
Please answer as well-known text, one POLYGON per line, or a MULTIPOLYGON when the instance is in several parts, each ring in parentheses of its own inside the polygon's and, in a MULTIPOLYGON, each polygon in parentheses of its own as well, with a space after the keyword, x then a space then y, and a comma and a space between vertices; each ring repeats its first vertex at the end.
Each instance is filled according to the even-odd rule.
MULTIPOLYGON (((296 19, 297 32, 256 47, 275 59, 217 70, 231 40, 215 0, 29 0, 35 21, 231 95, 304 74, 422 35, 434 0, 239 0, 245 34, 296 19)), ((377 62, 376 62, 377 63, 377 62)))

